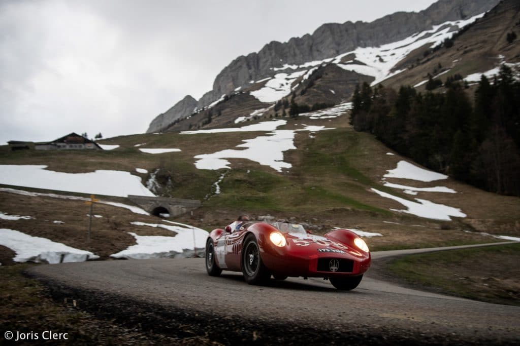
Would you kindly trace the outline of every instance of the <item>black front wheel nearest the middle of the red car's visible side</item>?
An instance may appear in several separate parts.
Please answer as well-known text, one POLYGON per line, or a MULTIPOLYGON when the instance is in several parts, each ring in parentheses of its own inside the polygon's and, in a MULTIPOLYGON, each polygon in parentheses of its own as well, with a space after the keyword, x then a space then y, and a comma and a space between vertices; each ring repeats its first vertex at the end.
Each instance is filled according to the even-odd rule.
POLYGON ((255 236, 249 234, 242 247, 242 273, 245 282, 251 285, 261 285, 271 278, 260 256, 260 248, 255 236))

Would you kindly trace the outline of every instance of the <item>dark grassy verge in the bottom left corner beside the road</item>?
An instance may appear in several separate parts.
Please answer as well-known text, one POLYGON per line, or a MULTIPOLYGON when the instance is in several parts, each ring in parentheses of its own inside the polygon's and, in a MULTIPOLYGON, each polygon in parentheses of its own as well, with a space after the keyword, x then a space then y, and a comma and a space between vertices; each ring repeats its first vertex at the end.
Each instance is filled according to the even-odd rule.
POLYGON ((110 320, 100 320, 80 310, 80 302, 74 307, 72 298, 55 302, 48 290, 23 271, 29 264, 0 267, 0 344, 8 343, 5 333, 11 331, 15 341, 18 333, 29 338, 16 344, 212 344, 208 339, 177 338, 162 334, 126 328, 110 320), (67 339, 45 340, 44 331, 67 334, 67 339), (30 334, 32 332, 32 335, 30 334), (35 339, 37 335, 38 339, 35 339))

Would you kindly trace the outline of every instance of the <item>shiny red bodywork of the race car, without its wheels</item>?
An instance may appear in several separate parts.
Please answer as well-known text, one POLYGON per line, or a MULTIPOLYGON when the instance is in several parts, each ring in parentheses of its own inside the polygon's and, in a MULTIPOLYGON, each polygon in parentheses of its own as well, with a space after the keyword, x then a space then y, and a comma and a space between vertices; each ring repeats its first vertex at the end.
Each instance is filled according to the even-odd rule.
POLYGON ((286 240, 284 246, 276 246, 269 240, 270 233, 275 231, 279 230, 269 223, 254 223, 235 232, 213 230, 209 239, 215 248, 217 266, 224 270, 242 271, 242 244, 248 234, 253 234, 264 265, 275 275, 357 276, 370 267, 370 252, 357 248, 354 239, 359 236, 353 231, 336 229, 323 237, 308 233, 281 232, 286 240), (328 268, 331 259, 340 260, 340 270, 332 271, 328 268))

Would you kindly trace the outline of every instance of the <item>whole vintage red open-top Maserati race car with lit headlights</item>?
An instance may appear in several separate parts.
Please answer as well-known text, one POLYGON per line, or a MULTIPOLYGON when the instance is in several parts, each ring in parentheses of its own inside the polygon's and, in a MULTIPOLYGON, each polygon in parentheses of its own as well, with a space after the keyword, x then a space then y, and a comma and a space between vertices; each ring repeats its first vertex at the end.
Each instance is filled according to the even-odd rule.
POLYGON ((236 221, 214 229, 206 242, 206 270, 241 271, 245 281, 262 284, 274 276, 328 278, 338 289, 356 288, 370 267, 370 251, 348 229, 323 237, 287 222, 236 221))

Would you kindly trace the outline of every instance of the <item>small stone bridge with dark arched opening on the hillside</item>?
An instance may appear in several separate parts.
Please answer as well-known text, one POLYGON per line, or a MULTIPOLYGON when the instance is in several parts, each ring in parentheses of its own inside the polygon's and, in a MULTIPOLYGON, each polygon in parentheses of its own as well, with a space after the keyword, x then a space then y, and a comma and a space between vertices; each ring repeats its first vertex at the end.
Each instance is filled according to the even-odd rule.
POLYGON ((170 214, 170 216, 178 216, 197 209, 201 205, 199 200, 194 199, 145 197, 134 195, 128 195, 128 199, 155 216, 160 216, 159 214, 170 214))

